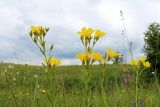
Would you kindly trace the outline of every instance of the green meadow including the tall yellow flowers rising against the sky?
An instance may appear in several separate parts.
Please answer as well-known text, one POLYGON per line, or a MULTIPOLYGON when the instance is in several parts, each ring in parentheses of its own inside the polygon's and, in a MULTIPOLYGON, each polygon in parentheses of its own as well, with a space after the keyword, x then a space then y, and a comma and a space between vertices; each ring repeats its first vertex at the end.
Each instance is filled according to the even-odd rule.
POLYGON ((128 46, 123 54, 112 48, 96 51, 94 46, 106 33, 82 27, 77 34, 83 52, 75 55, 81 65, 69 66, 54 56, 54 43, 48 46, 45 38, 48 31, 43 26, 29 29, 43 57, 41 66, 0 64, 0 107, 160 107, 158 54, 150 55, 147 47, 155 59, 134 59, 125 26, 122 36, 128 46))

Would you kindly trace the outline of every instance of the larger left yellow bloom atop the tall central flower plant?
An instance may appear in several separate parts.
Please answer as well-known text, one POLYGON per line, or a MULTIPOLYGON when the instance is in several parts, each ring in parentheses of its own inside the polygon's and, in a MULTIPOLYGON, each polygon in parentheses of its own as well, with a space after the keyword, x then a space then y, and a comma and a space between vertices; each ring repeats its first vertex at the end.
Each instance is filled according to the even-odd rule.
POLYGON ((83 27, 80 32, 78 32, 78 35, 84 38, 89 38, 94 33, 94 30, 92 28, 85 28, 83 27))

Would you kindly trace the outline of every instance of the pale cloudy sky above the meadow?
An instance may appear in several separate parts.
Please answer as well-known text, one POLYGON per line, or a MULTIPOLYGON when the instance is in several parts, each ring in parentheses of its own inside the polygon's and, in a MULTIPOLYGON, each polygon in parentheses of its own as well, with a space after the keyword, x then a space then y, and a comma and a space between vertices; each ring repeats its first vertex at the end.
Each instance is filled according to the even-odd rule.
MULTIPOLYGON (((106 32, 96 51, 112 48, 123 53, 120 10, 136 59, 143 55, 147 26, 160 22, 159 4, 160 0, 0 0, 0 60, 41 64, 42 55, 28 34, 31 25, 50 28, 47 44, 55 44, 53 55, 63 65, 80 64, 75 55, 83 51, 77 35, 83 26, 106 32)), ((131 59, 126 53, 127 60, 131 59)))

